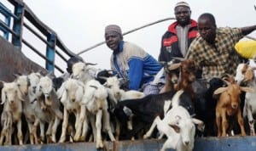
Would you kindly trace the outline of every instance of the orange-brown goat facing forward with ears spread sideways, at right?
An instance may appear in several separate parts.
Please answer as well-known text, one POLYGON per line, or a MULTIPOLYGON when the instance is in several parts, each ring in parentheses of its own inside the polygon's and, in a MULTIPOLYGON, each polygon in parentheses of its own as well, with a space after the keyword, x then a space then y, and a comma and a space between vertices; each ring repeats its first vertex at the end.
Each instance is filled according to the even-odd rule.
MULTIPOLYGON (((241 91, 253 92, 253 89, 250 87, 240 87, 237 83, 228 84, 228 87, 219 87, 214 92, 214 94, 220 93, 216 106, 216 124, 218 128, 218 137, 225 137, 227 134, 229 123, 231 123, 231 120, 228 123, 227 117, 237 118, 241 128, 241 136, 246 136, 243 119, 241 117, 240 94, 241 91)), ((232 125, 230 125, 230 127, 231 126, 232 125)))

